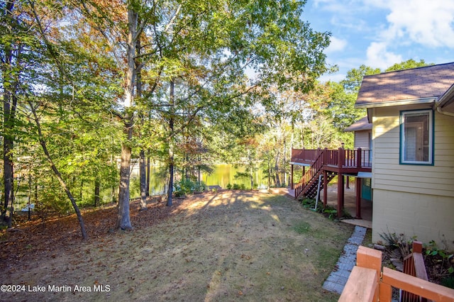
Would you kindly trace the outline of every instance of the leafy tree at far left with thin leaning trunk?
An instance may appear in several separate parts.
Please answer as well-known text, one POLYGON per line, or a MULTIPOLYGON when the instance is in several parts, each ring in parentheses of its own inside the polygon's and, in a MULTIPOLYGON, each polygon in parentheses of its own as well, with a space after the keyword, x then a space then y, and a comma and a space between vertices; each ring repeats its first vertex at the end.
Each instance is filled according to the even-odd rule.
MULTIPOLYGON (((59 33, 48 30, 55 24, 61 23, 61 15, 58 9, 48 8, 45 5, 35 5, 34 1, 9 1, 2 8, 6 8, 7 16, 11 15, 15 18, 13 25, 16 26, 6 26, 9 34, 2 35, 4 43, 1 44, 4 47, 1 49, 1 53, 9 58, 9 60, 2 60, 2 63, 5 62, 5 64, 2 64, 2 78, 4 79, 2 88, 7 91, 4 104, 9 104, 8 95, 13 93, 11 99, 15 110, 14 116, 9 114, 11 107, 5 110, 9 112, 5 115, 9 116, 9 122, 4 123, 4 125, 11 126, 10 131, 6 132, 18 142, 22 150, 26 150, 24 145, 28 141, 40 143, 52 172, 77 213, 82 237, 86 238, 87 233, 84 229, 82 216, 76 198, 72 194, 74 186, 71 187, 71 181, 75 178, 74 174, 70 174, 71 177, 65 177, 65 173, 61 169, 62 165, 60 165, 64 160, 62 160, 62 157, 58 157, 60 163, 54 160, 56 152, 60 152, 60 155, 66 157, 65 151, 69 148, 67 148, 67 144, 58 147, 53 146, 52 141, 55 140, 52 140, 52 138, 58 140, 71 132, 71 129, 66 128, 70 125, 68 116, 77 116, 83 121, 93 118, 89 116, 89 112, 98 107, 94 105, 94 102, 87 104, 87 99, 93 101, 92 96, 96 93, 89 93, 82 99, 78 97, 79 91, 77 89, 83 87, 82 90, 86 89, 84 92, 92 92, 94 90, 93 84, 96 80, 99 80, 99 77, 94 76, 93 73, 84 74, 82 71, 86 71, 89 67, 80 64, 80 57, 74 57, 74 45, 56 43, 56 40, 59 40, 57 36, 59 33), (13 13, 13 9, 15 9, 15 13, 13 13), (14 33, 14 30, 16 30, 16 33, 14 33), (14 51, 11 52, 10 50, 14 51), (62 56, 63 52, 72 60, 67 60, 67 57, 62 56), (11 56, 8 54, 11 54, 11 56), (11 64, 6 64, 7 62, 14 63, 13 69, 11 69, 11 64), (82 77, 82 75, 85 77, 82 77), (89 80, 87 81, 87 79, 89 80), (11 90, 11 87, 15 88, 11 90), (87 108, 89 110, 86 110, 87 108), (40 109, 43 109, 43 111, 40 111, 40 109), (38 111, 40 112, 38 113, 38 111), (71 111, 71 114, 69 111, 71 111), (85 113, 84 117, 82 117, 81 112, 85 113), (17 116, 17 113, 20 114, 17 116), (45 125, 43 125, 43 122, 45 125), (46 132, 49 129, 52 130, 51 135, 46 132)), ((84 52, 84 54, 87 55, 87 52, 84 52)), ((111 90, 111 87, 106 87, 107 90, 111 90)), ((94 119, 99 123, 99 116, 94 119)), ((84 128, 84 130, 87 130, 87 128, 84 128)), ((74 133, 69 136, 70 141, 74 141, 74 133)), ((6 140, 8 139, 6 138, 6 140)), ((86 144, 87 141, 84 143, 86 144)), ((12 147, 12 140, 11 144, 6 143, 6 145, 12 147)), ((19 150, 16 147, 15 149, 19 150)), ((11 151, 9 156, 11 156, 11 151)), ((24 152, 21 155, 26 158, 27 153, 24 152)), ((34 156, 31 158, 33 159, 34 156)), ((35 163, 28 160, 28 163, 30 167, 43 167, 39 162, 35 163)), ((63 166, 65 167, 65 165, 63 166)), ((81 166, 79 165, 79 167, 81 166)), ((31 187, 31 168, 28 171, 29 186, 31 187)), ((21 173, 23 170, 18 172, 21 173)), ((38 189, 35 189, 35 195, 38 195, 38 189)))

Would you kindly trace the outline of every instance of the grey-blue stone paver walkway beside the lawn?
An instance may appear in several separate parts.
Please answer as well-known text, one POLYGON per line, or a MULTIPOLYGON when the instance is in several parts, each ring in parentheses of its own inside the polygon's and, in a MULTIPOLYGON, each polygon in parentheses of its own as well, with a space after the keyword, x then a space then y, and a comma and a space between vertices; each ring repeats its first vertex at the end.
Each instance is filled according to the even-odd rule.
POLYGON ((343 253, 338 259, 336 268, 331 272, 323 284, 323 289, 327 291, 334 291, 341 294, 345 284, 347 283, 348 276, 352 272, 353 267, 356 264, 356 251, 361 245, 362 240, 366 235, 366 228, 359 225, 355 226, 355 231, 348 239, 347 244, 343 247, 343 253))

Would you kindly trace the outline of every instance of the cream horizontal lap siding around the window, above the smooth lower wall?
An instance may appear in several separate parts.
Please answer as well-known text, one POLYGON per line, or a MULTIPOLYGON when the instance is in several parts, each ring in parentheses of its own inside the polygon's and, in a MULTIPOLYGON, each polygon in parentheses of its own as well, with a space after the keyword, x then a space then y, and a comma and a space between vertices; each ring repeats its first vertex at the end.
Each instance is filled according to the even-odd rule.
POLYGON ((454 196, 454 118, 434 113, 434 165, 399 164, 399 113, 421 106, 375 108, 372 188, 454 196))

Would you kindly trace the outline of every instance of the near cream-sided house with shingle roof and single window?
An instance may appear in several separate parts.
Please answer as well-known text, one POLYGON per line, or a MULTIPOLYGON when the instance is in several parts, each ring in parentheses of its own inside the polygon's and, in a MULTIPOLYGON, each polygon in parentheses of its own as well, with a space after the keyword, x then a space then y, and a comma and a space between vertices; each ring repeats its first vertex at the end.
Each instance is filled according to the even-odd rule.
POLYGON ((372 241, 416 236, 454 249, 454 62, 365 76, 372 125, 372 241))

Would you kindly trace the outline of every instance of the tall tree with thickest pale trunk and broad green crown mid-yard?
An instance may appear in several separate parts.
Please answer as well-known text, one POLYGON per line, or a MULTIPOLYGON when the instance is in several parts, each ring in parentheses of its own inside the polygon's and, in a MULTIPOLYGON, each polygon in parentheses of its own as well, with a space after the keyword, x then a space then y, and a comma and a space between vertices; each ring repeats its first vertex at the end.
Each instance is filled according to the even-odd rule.
MULTIPOLYGON (((204 118, 220 121, 238 107, 248 108, 271 84, 309 91, 326 70, 322 50, 328 46, 328 33, 314 32, 301 21, 301 2, 67 0, 58 4, 55 10, 62 22, 49 23, 41 31, 58 35, 52 39, 43 35, 43 41, 62 69, 65 89, 73 79, 56 59, 62 45, 69 43, 98 54, 87 65, 107 84, 122 88, 102 106, 123 123, 117 218, 121 229, 132 228, 129 172, 140 110, 150 113, 150 123, 167 121, 170 130, 153 134, 164 135, 157 141, 171 146, 167 142, 177 143, 189 125, 204 118), (103 61, 114 64, 106 66, 103 61), (246 67, 257 74, 250 82, 244 77, 246 67), (171 82, 173 104, 165 91, 171 82)), ((93 88, 101 89, 97 83, 93 88)), ((167 156, 171 158, 172 152, 167 156)))

